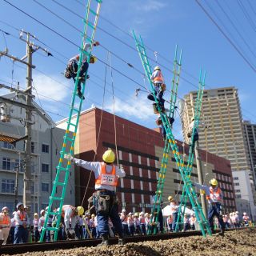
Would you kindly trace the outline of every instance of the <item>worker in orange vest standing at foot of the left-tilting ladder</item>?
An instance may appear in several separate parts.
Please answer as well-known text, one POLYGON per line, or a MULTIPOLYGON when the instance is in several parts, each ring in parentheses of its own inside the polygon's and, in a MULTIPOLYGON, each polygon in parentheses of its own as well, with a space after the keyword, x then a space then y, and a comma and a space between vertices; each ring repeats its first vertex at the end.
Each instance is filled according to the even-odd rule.
POLYGON ((208 221, 210 224, 210 229, 214 231, 214 216, 218 218, 218 222, 221 226, 220 234, 224 234, 225 224, 222 218, 222 190, 218 186, 218 181, 216 178, 210 180, 210 186, 201 185, 199 183, 193 183, 194 186, 198 187, 200 190, 206 192, 206 199, 208 200, 208 221))

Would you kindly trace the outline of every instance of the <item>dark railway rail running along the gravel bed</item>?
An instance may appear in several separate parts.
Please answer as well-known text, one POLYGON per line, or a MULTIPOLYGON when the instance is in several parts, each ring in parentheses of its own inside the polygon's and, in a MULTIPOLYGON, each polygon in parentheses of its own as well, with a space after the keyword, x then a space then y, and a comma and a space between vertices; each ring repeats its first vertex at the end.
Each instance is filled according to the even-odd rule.
MULTIPOLYGON (((244 229, 244 228, 242 228, 244 229)), ((229 229, 235 230, 235 229, 229 229)), ((229 231, 226 230, 226 231, 229 231)), ((201 231, 186 231, 169 234, 151 234, 151 235, 138 235, 134 237, 127 237, 126 242, 144 242, 144 241, 158 241, 166 240, 171 238, 186 238, 194 235, 202 235, 201 231)), ((72 249, 78 247, 90 247, 97 246, 102 239, 83 239, 83 240, 68 240, 58 242, 37 242, 37 243, 26 243, 18 245, 5 245, 0 248, 0 255, 2 254, 24 254, 26 252, 45 251, 45 250, 59 250, 59 249, 72 249)), ((110 238, 110 245, 118 243, 118 238, 110 238)))

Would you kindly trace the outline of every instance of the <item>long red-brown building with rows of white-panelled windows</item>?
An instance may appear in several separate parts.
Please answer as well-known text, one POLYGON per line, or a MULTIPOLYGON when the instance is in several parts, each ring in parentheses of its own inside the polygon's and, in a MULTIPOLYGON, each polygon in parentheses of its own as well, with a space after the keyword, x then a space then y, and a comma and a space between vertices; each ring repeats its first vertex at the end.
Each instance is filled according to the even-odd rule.
MULTIPOLYGON (((115 117, 115 122, 118 163, 126 171, 126 177, 118 182, 119 201, 128 211, 149 211, 150 198, 155 194, 161 165, 159 161, 162 156, 156 154, 156 148, 164 146, 162 136, 157 130, 150 130, 118 116, 115 117)), ((182 150, 181 142, 178 142, 178 146, 182 150)), ((102 154, 108 148, 115 151, 114 115, 98 108, 82 112, 75 147, 78 153, 75 157, 87 161, 102 161, 102 154)), ((234 186, 230 161, 214 154, 206 155, 206 151, 201 151, 202 162, 206 161, 206 157, 208 163, 214 166, 213 173, 224 191, 226 208, 232 210, 234 208, 234 186)), ((170 167, 174 167, 171 170, 180 180, 180 175, 175 169, 174 158, 171 160, 170 167)), ((83 206, 87 207, 87 199, 94 192, 94 174, 78 166, 76 166, 75 174, 76 204, 80 205, 83 201, 83 206)), ((196 173, 191 176, 193 175, 197 177, 196 173)), ((174 183, 175 181, 172 180, 173 185, 170 186, 175 186, 174 183)))

